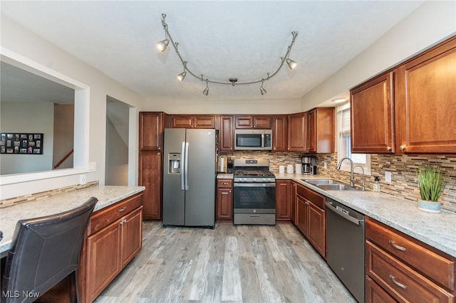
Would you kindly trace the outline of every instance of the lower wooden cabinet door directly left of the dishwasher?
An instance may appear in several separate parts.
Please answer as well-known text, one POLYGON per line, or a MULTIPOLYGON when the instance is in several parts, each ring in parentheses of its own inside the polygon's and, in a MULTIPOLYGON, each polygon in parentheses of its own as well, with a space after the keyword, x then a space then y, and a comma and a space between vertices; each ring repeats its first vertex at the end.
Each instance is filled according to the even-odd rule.
POLYGON ((315 206, 314 203, 308 202, 309 225, 307 238, 314 245, 314 248, 320 252, 320 255, 326 257, 326 218, 325 211, 315 206))

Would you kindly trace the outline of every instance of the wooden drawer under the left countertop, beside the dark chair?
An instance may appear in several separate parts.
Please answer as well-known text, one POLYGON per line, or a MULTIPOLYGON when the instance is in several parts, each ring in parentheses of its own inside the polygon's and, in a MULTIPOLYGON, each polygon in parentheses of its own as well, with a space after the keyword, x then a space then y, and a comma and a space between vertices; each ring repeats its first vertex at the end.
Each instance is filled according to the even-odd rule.
POLYGON ((93 213, 92 218, 90 218, 88 235, 96 233, 140 206, 142 206, 142 193, 93 213))

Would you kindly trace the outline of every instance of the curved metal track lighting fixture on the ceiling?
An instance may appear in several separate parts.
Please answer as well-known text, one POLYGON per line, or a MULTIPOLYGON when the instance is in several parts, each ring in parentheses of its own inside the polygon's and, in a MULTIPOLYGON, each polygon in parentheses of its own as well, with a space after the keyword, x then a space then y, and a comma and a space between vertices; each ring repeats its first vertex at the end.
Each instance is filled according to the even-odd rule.
POLYGON ((298 32, 297 31, 292 31, 291 32, 291 35, 293 36, 293 38, 291 39, 291 43, 290 45, 288 46, 287 50, 286 50, 286 53, 284 55, 284 57, 281 57, 280 58, 280 65, 279 65, 279 68, 277 68, 274 73, 271 73, 269 75, 269 73, 267 73, 267 77, 264 78, 264 77, 261 77, 261 79, 259 80, 255 80, 255 81, 250 81, 250 82, 238 82, 237 78, 236 77, 231 77, 229 78, 228 82, 221 82, 221 81, 214 81, 214 80, 209 80, 209 78, 204 78, 204 75, 201 75, 201 77, 197 76, 197 74, 193 73, 192 70, 188 69, 187 68, 187 61, 185 61, 183 58, 182 58, 182 55, 180 55, 179 53, 179 50, 177 49, 177 47, 179 46, 179 43, 177 42, 174 42, 171 38, 171 35, 170 35, 170 32, 168 31, 168 26, 167 26, 167 23, 165 22, 165 18, 166 18, 166 14, 162 14, 162 26, 163 28, 165 29, 165 40, 162 40, 162 41, 158 41, 157 43, 155 43, 155 46, 157 46, 158 50, 160 50, 160 52, 164 52, 168 46, 168 44, 171 42, 172 43, 172 46, 174 47, 176 53, 177 53, 177 56, 179 57, 180 61, 182 62, 182 65, 184 67, 184 71, 182 73, 180 73, 179 75, 177 75, 177 79, 179 79, 180 81, 184 80, 185 76, 187 75, 187 72, 190 73, 190 75, 192 75, 193 77, 201 80, 201 81, 205 81, 206 82, 206 88, 204 88, 203 90, 203 95, 209 95, 209 83, 215 83, 215 84, 221 84, 221 85, 232 85, 232 86, 235 86, 235 85, 249 85, 249 84, 254 84, 254 83, 261 83, 261 87, 259 87, 259 91, 261 92, 261 95, 264 95, 266 94, 266 90, 264 89, 263 87, 263 83, 264 81, 266 80, 269 80, 271 79, 272 77, 274 77, 274 75, 276 75, 277 73, 279 73, 279 70, 282 68, 282 66, 284 66, 284 63, 286 62, 286 64, 289 66, 289 68, 291 70, 293 70, 294 68, 296 68, 296 61, 294 60, 291 60, 289 58, 289 55, 290 55, 290 52, 291 52, 291 48, 293 47, 294 45, 294 42, 296 41, 296 37, 298 36, 298 32))

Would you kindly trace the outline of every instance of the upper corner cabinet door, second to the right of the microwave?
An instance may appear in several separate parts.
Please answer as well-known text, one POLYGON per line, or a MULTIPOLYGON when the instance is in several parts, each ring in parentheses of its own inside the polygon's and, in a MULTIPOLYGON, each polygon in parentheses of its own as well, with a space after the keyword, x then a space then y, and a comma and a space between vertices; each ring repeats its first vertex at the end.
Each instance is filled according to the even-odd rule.
POLYGON ((307 151, 307 113, 288 116, 288 150, 307 151))

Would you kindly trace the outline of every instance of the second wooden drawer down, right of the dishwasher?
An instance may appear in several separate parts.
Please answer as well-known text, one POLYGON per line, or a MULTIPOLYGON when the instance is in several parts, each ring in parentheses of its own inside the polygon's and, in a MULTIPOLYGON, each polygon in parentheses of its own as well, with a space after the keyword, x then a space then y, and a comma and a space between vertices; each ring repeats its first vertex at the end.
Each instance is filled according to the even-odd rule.
POLYGON ((366 273, 399 302, 455 302, 445 289, 369 241, 366 273))

